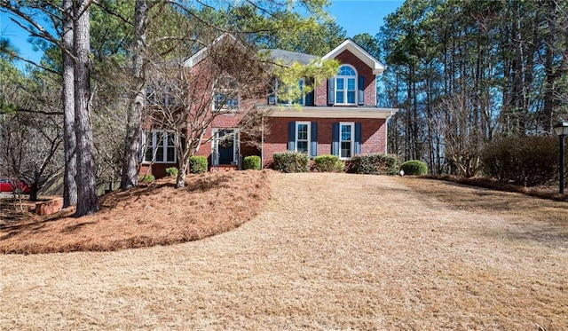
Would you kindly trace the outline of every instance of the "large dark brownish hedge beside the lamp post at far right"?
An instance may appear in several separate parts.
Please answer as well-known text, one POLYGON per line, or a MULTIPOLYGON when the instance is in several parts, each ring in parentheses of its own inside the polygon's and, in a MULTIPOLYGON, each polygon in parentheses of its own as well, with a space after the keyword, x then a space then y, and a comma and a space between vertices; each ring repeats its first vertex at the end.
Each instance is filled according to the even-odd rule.
POLYGON ((558 175, 558 143, 553 137, 502 138, 484 146, 484 173, 501 183, 544 185, 558 175))

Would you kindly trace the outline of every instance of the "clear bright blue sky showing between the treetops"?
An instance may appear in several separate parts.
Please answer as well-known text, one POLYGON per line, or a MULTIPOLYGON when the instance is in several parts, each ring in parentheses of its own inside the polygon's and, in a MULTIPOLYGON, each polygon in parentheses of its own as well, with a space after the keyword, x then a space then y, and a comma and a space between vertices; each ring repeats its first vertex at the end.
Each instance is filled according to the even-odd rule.
MULTIPOLYGON (((400 0, 333 0, 327 11, 348 37, 362 33, 376 35, 383 26, 383 19, 403 3, 400 0)), ((28 34, 5 12, 0 12, 0 37, 8 38, 24 58, 38 61, 42 57, 42 52, 35 51, 28 43, 28 34)), ((20 67, 23 68, 23 64, 20 67)))

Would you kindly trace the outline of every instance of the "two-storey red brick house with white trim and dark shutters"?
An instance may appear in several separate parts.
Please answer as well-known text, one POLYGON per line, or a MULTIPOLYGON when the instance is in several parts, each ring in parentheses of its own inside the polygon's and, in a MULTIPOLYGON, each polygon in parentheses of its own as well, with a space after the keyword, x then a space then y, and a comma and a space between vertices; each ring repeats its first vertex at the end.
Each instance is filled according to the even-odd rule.
MULTIPOLYGON (((193 70, 198 68, 206 58, 205 51, 203 49, 187 59, 186 66, 193 70)), ((269 52, 272 59, 285 62, 307 64, 317 59, 293 51, 269 52)), ((233 111, 217 115, 205 132, 206 142, 196 154, 207 156, 211 169, 238 169, 248 155, 261 156, 263 166, 270 167, 273 154, 287 150, 307 153, 311 157, 335 154, 343 160, 357 154, 386 154, 387 120, 398 109, 377 106, 376 76, 383 74, 385 66, 351 39, 328 52, 323 59, 339 60, 337 75, 316 84, 312 92, 292 103, 280 100, 277 89, 264 99, 232 96, 227 100, 223 93, 215 91, 214 98, 225 98, 225 106, 233 107, 233 111), (257 148, 245 144, 246 138, 241 137, 239 130, 243 115, 255 107, 268 110, 264 122, 270 126, 257 148)), ((306 77, 300 85, 311 82, 313 80, 306 77)), ((213 104, 211 109, 215 111, 215 102, 213 104)), ((149 145, 150 148, 164 148, 158 154, 162 159, 152 162, 151 171, 156 177, 162 177, 166 168, 177 163, 172 150, 173 139, 175 137, 164 135, 162 146, 155 141, 149 145)), ((143 158, 141 173, 149 166, 148 160, 143 158)))

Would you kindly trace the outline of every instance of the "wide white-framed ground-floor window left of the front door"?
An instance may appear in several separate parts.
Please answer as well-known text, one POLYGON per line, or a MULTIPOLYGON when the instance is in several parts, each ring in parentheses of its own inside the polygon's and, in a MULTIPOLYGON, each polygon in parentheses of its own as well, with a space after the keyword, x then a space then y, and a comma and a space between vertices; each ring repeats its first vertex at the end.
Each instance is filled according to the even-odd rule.
POLYGON ((163 130, 146 131, 143 136, 143 162, 175 163, 176 134, 163 130))

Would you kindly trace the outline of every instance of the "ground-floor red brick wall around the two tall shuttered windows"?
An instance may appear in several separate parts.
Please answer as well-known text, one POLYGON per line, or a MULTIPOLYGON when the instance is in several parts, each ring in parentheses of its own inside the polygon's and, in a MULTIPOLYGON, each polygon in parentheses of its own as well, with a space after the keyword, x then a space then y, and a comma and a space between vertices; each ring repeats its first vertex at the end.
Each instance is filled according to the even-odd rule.
POLYGON ((361 123, 361 154, 386 154, 386 120, 363 118, 270 118, 271 133, 264 137, 264 167, 272 165, 275 153, 288 150, 288 122, 318 122, 318 155, 332 154, 334 122, 361 123))

